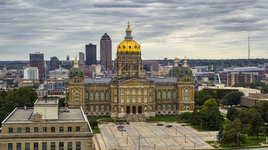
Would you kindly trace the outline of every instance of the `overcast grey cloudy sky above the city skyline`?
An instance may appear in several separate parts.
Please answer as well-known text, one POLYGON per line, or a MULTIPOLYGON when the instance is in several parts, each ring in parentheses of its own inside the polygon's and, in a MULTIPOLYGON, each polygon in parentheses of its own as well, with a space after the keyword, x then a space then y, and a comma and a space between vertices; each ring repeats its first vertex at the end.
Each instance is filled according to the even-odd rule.
POLYGON ((105 32, 114 59, 128 19, 144 60, 248 58, 248 36, 250 58, 268 57, 267 0, 61 1, 1 0, 0 61, 29 60, 34 52, 74 60, 88 43, 97 45, 98 59, 105 32))

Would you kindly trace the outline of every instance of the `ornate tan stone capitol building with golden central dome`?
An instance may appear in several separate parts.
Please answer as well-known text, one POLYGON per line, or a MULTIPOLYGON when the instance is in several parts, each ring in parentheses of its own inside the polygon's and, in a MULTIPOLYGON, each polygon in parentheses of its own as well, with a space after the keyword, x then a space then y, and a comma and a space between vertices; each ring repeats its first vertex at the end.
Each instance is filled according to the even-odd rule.
POLYGON ((148 78, 142 74, 141 46, 132 39, 131 32, 128 24, 125 40, 117 45, 116 70, 112 78, 84 78, 75 59, 69 78, 64 80, 66 107, 82 107, 89 116, 113 118, 131 115, 150 118, 192 112, 194 78, 186 58, 183 67, 179 67, 175 59, 169 77, 148 78))

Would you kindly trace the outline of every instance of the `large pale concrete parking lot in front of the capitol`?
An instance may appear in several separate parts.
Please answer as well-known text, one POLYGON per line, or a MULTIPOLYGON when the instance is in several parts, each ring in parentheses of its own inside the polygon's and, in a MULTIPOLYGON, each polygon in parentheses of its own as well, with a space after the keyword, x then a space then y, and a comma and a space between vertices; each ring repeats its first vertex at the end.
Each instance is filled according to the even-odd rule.
POLYGON ((118 131, 111 125, 99 126, 101 134, 96 134, 101 149, 196 149, 213 148, 205 141, 213 141, 216 132, 198 132, 189 126, 174 123, 173 127, 157 126, 157 123, 124 125, 126 131, 118 131), (176 135, 177 127, 177 135, 176 135), (123 133, 123 136, 122 136, 123 133), (186 134, 186 143, 185 143, 186 134), (140 135, 140 136, 139 136, 140 135), (194 143, 192 143, 194 142, 194 143))

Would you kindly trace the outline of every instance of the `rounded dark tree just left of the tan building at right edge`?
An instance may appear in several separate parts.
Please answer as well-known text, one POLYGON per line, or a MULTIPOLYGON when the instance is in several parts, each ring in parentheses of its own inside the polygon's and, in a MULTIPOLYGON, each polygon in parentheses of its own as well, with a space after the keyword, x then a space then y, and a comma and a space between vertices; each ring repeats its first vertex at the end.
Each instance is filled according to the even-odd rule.
POLYGON ((240 96, 244 96, 243 92, 234 91, 226 94, 222 99, 227 101, 228 105, 237 105, 240 101, 240 96))

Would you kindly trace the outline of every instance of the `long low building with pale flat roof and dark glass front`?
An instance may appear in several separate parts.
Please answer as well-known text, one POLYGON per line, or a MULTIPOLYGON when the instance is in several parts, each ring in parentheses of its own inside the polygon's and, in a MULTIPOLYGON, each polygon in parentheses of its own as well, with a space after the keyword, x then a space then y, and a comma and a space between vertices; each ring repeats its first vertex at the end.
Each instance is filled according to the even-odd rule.
POLYGON ((226 84, 215 84, 215 87, 203 87, 199 86, 198 91, 204 89, 208 91, 210 95, 213 96, 215 99, 221 99, 226 94, 233 92, 233 91, 240 91, 243 92, 244 95, 249 95, 249 93, 260 93, 260 90, 251 89, 251 88, 243 88, 243 87, 224 87, 226 84))

